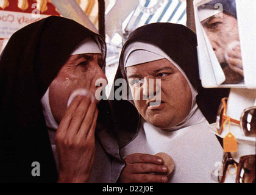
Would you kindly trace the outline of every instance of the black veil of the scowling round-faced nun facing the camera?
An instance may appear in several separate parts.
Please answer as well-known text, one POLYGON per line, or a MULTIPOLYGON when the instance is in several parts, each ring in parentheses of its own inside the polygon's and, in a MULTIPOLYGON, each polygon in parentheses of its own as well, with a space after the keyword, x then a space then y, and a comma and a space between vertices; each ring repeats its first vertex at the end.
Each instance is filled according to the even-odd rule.
MULTIPOLYGON (((130 44, 137 41, 153 44, 162 49, 163 52, 183 69, 191 84, 198 92, 196 102, 201 112, 210 124, 215 122, 221 98, 229 96, 230 90, 226 88, 202 87, 197 60, 196 34, 180 24, 153 23, 139 27, 130 34, 124 44, 115 80, 119 78, 127 80, 123 62, 124 51, 130 44)), ((114 86, 113 91, 116 91, 117 88, 114 86)), ((127 88, 129 88, 128 82, 127 88)), ((114 100, 110 102, 115 113, 116 121, 118 122, 119 143, 121 145, 126 144, 127 141, 134 137, 136 133, 134 131, 137 130, 139 118, 138 114, 135 114, 136 108, 125 100, 114 100)))

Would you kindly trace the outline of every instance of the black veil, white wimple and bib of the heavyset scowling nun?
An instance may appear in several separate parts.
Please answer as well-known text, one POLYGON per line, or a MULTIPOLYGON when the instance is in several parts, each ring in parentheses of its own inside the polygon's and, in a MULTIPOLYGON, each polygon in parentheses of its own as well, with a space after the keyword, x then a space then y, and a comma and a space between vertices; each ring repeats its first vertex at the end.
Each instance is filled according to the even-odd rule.
MULTIPOLYGON (((127 96, 110 101, 118 125, 121 155, 124 158, 135 153, 165 152, 175 163, 168 182, 213 182, 211 173, 222 159, 222 147, 221 140, 208 130, 208 124, 215 122, 221 98, 228 96, 229 89, 202 87, 196 35, 185 26, 171 23, 148 24, 132 32, 121 52, 115 80, 123 78, 129 83, 127 68, 161 59, 171 62, 187 80, 192 95, 188 99, 192 102, 190 112, 176 126, 160 129, 140 115, 134 99, 127 96)), ((114 86, 113 91, 117 88, 114 86)), ((173 111, 168 112, 171 115, 173 111)))

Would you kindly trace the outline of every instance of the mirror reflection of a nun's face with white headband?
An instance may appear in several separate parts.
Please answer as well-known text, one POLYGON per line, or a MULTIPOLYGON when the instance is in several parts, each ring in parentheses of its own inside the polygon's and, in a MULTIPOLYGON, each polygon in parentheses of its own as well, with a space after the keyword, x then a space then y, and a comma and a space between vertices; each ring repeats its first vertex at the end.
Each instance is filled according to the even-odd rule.
POLYGON ((213 0, 197 7, 205 34, 225 74, 222 84, 242 84, 243 62, 235 0, 213 0))

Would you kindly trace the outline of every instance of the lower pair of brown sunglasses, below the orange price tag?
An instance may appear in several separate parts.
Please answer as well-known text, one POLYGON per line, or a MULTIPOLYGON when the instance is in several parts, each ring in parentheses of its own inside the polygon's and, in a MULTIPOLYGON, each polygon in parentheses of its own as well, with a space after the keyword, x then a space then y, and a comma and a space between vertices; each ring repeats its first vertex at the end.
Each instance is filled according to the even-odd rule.
POLYGON ((255 155, 246 155, 240 158, 239 163, 233 160, 230 152, 225 152, 222 160, 221 174, 218 176, 220 183, 224 183, 227 172, 236 174, 236 183, 255 183, 255 155), (230 172, 230 166, 235 167, 235 173, 230 172))

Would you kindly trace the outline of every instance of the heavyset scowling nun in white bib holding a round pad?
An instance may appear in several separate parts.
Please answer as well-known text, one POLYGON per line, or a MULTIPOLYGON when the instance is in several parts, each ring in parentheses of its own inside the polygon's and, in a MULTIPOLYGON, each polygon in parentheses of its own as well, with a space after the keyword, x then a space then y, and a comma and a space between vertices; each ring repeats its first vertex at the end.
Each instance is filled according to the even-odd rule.
POLYGON ((194 32, 171 23, 139 27, 121 52, 115 80, 121 78, 132 99, 127 93, 111 101, 126 161, 120 182, 213 182, 222 147, 208 125, 229 89, 202 87, 194 32), (174 161, 169 176, 160 152, 174 161))

